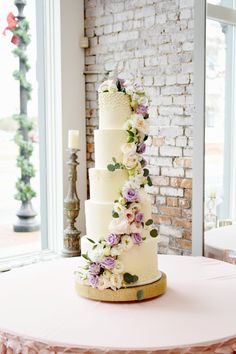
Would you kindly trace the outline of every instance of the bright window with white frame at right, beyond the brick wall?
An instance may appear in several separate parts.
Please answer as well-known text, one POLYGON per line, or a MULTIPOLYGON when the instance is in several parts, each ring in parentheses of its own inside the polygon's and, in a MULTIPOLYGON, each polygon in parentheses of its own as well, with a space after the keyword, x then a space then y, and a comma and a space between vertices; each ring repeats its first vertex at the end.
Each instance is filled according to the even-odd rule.
POLYGON ((214 3, 221 6, 208 5, 206 23, 205 230, 236 220, 236 11, 233 0, 214 3))

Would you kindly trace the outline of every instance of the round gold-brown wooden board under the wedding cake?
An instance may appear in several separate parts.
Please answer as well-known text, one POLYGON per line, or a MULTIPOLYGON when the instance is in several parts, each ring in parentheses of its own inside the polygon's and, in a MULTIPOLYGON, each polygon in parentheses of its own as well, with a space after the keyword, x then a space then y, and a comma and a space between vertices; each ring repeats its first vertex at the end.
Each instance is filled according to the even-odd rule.
POLYGON ((76 282, 75 288, 80 296, 91 300, 106 302, 142 301, 164 294, 167 281, 166 274, 161 273, 161 278, 153 283, 121 288, 116 291, 111 289, 98 290, 91 286, 80 284, 79 282, 76 282))

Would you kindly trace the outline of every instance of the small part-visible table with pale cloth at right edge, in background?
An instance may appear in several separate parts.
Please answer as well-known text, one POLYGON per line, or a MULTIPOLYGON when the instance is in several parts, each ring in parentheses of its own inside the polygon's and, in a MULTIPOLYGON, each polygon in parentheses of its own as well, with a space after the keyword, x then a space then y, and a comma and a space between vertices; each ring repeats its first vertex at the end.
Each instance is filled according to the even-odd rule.
POLYGON ((204 247, 206 257, 235 263, 236 224, 205 231, 204 247))

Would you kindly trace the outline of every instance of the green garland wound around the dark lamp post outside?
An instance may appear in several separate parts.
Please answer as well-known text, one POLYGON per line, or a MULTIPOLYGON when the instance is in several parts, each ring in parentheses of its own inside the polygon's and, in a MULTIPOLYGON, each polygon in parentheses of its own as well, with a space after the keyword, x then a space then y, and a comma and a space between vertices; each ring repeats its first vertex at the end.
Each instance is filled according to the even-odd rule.
MULTIPOLYGON (((26 47, 30 43, 30 36, 28 34, 29 23, 25 19, 18 20, 17 26, 11 29, 13 35, 17 37, 18 46, 12 51, 13 54, 21 60, 24 66, 24 70, 15 70, 13 77, 19 81, 20 86, 26 91, 27 99, 31 99, 32 86, 27 81, 26 73, 30 69, 28 63, 28 58, 26 55, 26 47)), ((30 178, 35 176, 35 169, 33 164, 30 162, 30 157, 33 153, 33 144, 27 138, 25 138, 25 130, 28 132, 32 131, 34 124, 32 119, 30 119, 25 114, 16 114, 13 116, 14 120, 18 123, 18 130, 15 134, 14 141, 19 147, 19 155, 17 157, 17 167, 21 171, 21 177, 16 182, 17 193, 15 198, 21 200, 22 202, 27 202, 36 196, 35 191, 30 185, 30 178)))

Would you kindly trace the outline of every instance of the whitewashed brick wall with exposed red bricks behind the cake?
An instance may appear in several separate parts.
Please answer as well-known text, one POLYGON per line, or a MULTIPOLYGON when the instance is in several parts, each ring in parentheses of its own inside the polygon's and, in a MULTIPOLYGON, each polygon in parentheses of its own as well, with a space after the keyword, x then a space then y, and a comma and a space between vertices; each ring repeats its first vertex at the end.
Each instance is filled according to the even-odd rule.
POLYGON ((85 0, 87 160, 94 165, 97 86, 141 72, 152 103, 146 159, 159 252, 191 253, 193 0, 85 0), (89 73, 88 73, 89 72, 89 73))

